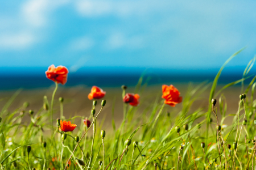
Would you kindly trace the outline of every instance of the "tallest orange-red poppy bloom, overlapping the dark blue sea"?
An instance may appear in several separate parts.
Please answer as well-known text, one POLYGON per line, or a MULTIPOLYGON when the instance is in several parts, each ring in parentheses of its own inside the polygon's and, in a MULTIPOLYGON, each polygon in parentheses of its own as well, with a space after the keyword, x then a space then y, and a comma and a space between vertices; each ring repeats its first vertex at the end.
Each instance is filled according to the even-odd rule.
POLYGON ((68 80, 68 69, 64 66, 57 66, 51 65, 48 67, 46 71, 46 77, 53 82, 65 84, 68 80))

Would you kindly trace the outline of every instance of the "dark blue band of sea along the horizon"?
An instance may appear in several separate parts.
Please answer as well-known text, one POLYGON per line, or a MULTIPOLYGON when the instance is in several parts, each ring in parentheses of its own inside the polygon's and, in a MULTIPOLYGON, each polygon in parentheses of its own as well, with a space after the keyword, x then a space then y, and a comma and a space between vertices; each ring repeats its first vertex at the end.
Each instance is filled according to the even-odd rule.
MULTIPOLYGON (((218 80, 219 84, 228 84, 242 78, 245 67, 226 67, 218 80)), ((18 88, 33 89, 53 86, 53 82, 45 75, 47 67, 1 67, 0 90, 16 90, 18 88)), ((65 87, 100 86, 120 87, 125 84, 134 87, 141 76, 148 86, 156 84, 175 84, 189 82, 212 82, 218 73, 216 69, 168 69, 139 67, 84 67, 69 71, 65 87)), ((252 69, 248 75, 255 75, 252 69)), ((251 76, 245 81, 250 83, 251 76)), ((240 84, 238 84, 240 85, 240 84)))

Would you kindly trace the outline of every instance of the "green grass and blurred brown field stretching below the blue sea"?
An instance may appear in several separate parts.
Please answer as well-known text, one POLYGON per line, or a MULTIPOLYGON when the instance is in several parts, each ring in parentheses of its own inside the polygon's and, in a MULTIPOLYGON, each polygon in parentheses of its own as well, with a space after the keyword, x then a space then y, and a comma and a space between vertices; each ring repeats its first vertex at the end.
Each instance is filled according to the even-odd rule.
POLYGON ((183 97, 175 107, 141 80, 105 88, 97 104, 82 87, 1 92, 1 169, 254 169, 254 61, 228 85, 217 86, 226 63, 212 83, 174 84, 183 97), (123 102, 127 92, 139 105, 123 102))

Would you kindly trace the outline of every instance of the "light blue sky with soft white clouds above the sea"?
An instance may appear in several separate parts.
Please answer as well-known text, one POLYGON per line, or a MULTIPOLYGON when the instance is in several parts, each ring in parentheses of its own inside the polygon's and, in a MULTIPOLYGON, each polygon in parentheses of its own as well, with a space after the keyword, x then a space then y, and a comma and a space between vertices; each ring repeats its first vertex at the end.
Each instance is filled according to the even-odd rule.
POLYGON ((0 67, 211 69, 256 54, 256 1, 0 2, 0 67))

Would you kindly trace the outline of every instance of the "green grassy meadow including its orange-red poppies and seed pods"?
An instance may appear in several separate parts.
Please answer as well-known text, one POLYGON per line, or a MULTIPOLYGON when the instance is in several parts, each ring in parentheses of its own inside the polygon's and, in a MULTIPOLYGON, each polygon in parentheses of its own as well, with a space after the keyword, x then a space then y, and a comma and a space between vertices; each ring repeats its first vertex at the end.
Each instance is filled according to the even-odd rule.
MULTIPOLYGON (((84 101, 92 105, 91 114, 64 116, 65 99, 57 99, 55 93, 59 84, 68 81, 69 71, 65 66, 51 65, 46 78, 55 83, 55 89, 52 96, 43 97, 38 111, 24 103, 10 112, 15 96, 1 100, 5 103, 0 116, 1 169, 254 169, 256 76, 250 70, 255 58, 241 79, 216 88, 222 70, 240 52, 224 63, 213 82, 191 86, 184 94, 175 84, 162 84, 162 96, 153 96, 143 112, 138 108, 147 101, 143 94, 150 91, 140 81, 137 87, 143 93, 133 93, 123 85, 120 97, 115 99, 122 100, 123 105, 118 107, 123 113, 118 114, 123 114, 123 119, 118 126, 112 119, 112 127, 102 126, 104 120, 97 119, 108 105, 104 98, 108 91, 97 86, 84 96, 84 101), (234 99, 237 105, 229 105, 237 112, 227 113, 222 92, 233 85, 241 86, 241 95, 234 99), (207 88, 208 105, 191 112, 207 88), (182 106, 179 112, 167 112, 177 105, 182 106), (28 124, 23 123, 26 115, 30 116, 28 124), (232 123, 225 124, 227 120, 232 123)), ((117 106, 110 107, 114 111, 117 106)), ((112 117, 112 113, 107 115, 112 117)))

